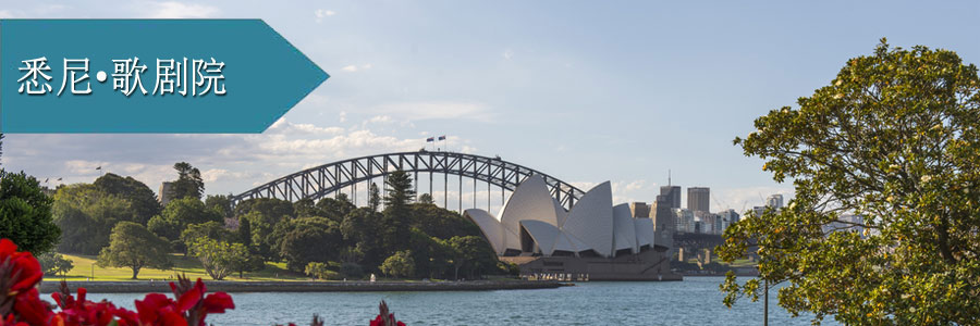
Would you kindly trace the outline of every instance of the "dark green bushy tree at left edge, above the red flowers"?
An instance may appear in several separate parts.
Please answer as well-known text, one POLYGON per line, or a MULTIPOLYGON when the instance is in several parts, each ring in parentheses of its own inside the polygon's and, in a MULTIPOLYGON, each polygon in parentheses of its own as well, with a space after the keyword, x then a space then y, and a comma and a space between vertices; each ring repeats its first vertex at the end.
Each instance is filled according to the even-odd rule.
POLYGON ((51 205, 36 178, 0 170, 0 235, 4 238, 36 254, 54 248, 61 229, 54 225, 51 205))

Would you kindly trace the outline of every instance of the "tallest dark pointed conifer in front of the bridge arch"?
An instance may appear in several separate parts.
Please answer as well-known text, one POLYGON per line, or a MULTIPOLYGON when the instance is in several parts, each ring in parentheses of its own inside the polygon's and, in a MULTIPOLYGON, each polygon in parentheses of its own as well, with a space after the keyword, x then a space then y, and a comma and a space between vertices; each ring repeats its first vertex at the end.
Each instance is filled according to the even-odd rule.
POLYGON ((412 211, 408 203, 415 198, 412 177, 404 171, 392 172, 384 181, 388 192, 384 195, 384 227, 380 234, 389 243, 390 250, 408 249, 409 218, 412 211))

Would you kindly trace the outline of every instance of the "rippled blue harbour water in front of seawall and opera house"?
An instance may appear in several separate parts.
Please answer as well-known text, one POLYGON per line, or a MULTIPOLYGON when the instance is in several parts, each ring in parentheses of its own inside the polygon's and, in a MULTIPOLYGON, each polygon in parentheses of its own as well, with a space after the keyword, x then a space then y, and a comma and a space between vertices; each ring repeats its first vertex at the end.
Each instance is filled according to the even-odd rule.
MULTIPOLYGON (((327 325, 368 325, 378 302, 388 302, 408 325, 762 325, 762 302, 722 305, 723 277, 665 283, 579 283, 542 290, 471 292, 233 293, 236 309, 212 315, 215 325, 307 325, 314 313, 327 325)), ((91 300, 133 309, 143 294, 90 293, 91 300)), ((810 325, 791 318, 770 292, 770 325, 810 325)), ((824 321, 824 325, 837 325, 824 321)))

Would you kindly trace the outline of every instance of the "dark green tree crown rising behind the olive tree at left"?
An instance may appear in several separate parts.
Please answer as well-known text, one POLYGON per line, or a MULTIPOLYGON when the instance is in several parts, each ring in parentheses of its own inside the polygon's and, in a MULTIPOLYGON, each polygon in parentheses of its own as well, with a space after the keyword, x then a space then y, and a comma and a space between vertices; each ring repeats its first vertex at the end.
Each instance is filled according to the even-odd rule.
POLYGON ((134 218, 130 221, 146 224, 150 217, 159 215, 162 210, 154 190, 133 177, 124 178, 107 173, 97 178, 93 185, 107 195, 128 201, 134 213, 134 218))

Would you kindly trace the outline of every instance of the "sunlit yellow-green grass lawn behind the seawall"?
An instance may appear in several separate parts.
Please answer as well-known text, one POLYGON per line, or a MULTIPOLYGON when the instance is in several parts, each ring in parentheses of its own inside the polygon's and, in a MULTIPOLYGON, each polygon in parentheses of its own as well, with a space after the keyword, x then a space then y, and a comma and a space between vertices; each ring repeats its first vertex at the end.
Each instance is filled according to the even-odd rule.
MULTIPOLYGON (((95 275, 91 280, 132 280, 133 269, 121 267, 99 267, 95 265, 96 258, 94 255, 75 255, 64 254, 64 258, 72 261, 75 265, 65 277, 45 276, 47 280, 87 280, 90 275, 95 275)), ((185 258, 180 254, 171 256, 173 268, 154 269, 143 268, 137 276, 139 279, 169 279, 175 278, 176 275, 186 274, 191 279, 200 277, 201 279, 211 279, 210 276, 200 266, 200 262, 195 258, 185 258)), ((224 278, 225 280, 308 280, 309 278, 299 273, 291 272, 285 268, 285 263, 266 263, 266 268, 257 272, 245 273, 245 278, 238 278, 238 274, 232 274, 224 278)))

